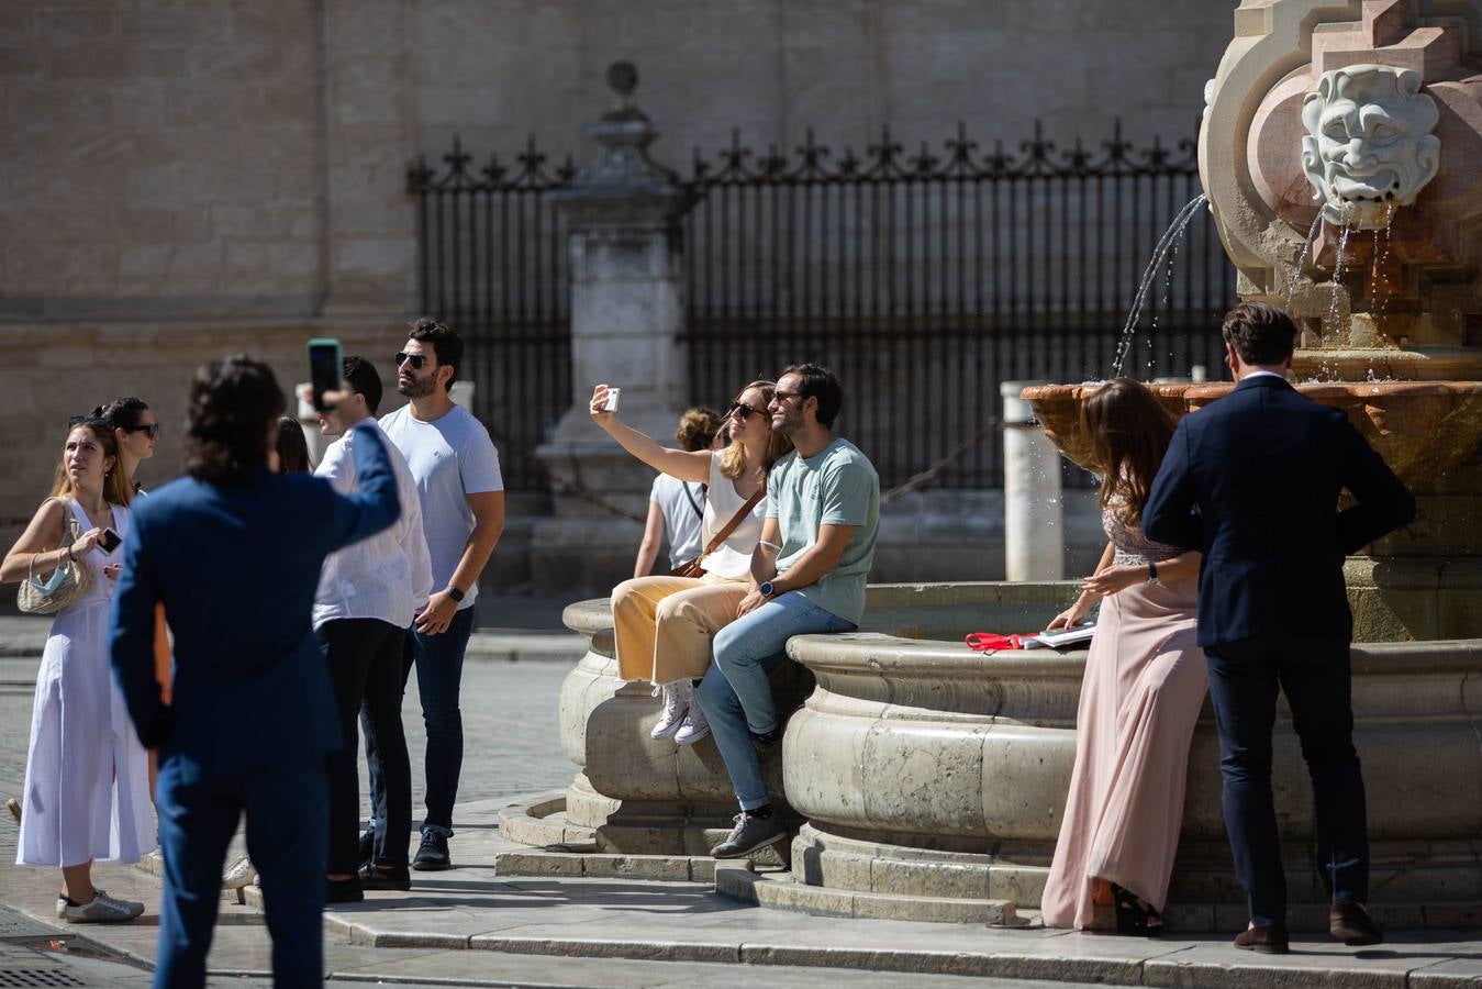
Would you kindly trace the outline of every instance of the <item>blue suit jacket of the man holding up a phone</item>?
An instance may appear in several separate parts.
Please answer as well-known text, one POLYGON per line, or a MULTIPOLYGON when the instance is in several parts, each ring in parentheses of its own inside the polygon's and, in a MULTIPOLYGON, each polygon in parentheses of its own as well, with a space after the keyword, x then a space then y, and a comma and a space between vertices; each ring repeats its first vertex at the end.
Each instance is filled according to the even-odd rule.
MULTIPOLYGON (((360 429, 360 427, 357 427, 360 429)), ((325 558, 400 506, 378 431, 354 443, 360 486, 264 469, 231 486, 173 480, 133 504, 113 601, 113 667, 145 746, 202 774, 323 758, 344 738, 310 626, 325 558), (172 703, 154 678, 154 603, 175 633, 172 703)))

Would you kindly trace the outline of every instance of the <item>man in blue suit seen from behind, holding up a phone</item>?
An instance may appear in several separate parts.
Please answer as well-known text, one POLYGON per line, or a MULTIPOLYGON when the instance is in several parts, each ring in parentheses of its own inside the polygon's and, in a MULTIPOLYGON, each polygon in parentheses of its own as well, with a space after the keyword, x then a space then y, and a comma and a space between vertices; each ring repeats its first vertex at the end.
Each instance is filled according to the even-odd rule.
MULTIPOLYGON (((325 558, 397 517, 378 430, 354 443, 360 486, 268 470, 283 393, 243 356, 196 372, 185 470, 139 503, 113 606, 113 666, 139 738, 159 747, 165 893, 156 986, 202 986, 221 867, 243 811, 262 881, 276 986, 323 983, 329 790, 344 738, 310 611, 325 558), (147 504, 145 504, 147 503, 147 504), (175 632, 165 704, 154 612, 175 632)), ((341 403, 347 426, 363 406, 341 403)))

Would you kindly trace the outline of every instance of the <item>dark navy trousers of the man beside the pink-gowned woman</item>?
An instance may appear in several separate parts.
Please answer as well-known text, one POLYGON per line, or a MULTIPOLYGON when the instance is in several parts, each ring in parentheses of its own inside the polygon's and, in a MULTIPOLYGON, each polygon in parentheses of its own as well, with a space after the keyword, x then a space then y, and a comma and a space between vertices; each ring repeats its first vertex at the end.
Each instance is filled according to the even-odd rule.
POLYGON ((1363 775, 1353 749, 1346 638, 1263 636, 1208 646, 1209 697, 1220 731, 1224 826, 1251 921, 1286 922, 1286 875, 1272 801, 1277 687, 1312 777, 1315 861, 1332 900, 1368 900, 1363 775))

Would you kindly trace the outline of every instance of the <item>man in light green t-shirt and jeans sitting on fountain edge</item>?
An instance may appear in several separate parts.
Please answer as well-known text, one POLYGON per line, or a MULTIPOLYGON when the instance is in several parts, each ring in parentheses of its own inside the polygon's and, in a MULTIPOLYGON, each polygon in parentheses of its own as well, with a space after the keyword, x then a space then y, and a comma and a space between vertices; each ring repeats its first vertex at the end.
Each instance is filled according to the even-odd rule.
POLYGON ((787 838, 762 778, 762 755, 782 734, 768 673, 787 658, 787 641, 852 632, 864 614, 880 477, 854 443, 833 434, 842 405, 839 380, 817 365, 784 371, 768 405, 772 429, 787 433, 793 452, 768 476, 751 589, 740 617, 716 635, 714 663, 698 692, 741 802, 737 826, 710 850, 716 859, 740 859, 787 838))

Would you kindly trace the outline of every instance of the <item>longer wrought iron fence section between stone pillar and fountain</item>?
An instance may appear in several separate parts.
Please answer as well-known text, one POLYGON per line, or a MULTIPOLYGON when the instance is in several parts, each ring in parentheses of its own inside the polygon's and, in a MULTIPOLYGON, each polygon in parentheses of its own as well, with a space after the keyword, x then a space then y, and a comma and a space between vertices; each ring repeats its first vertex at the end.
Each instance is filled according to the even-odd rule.
MULTIPOLYGON (((791 156, 756 154, 735 136, 713 160, 697 151, 691 187, 692 397, 827 363, 848 396, 840 431, 895 485, 994 420, 1000 381, 1110 374, 1143 267, 1199 176, 1189 141, 1134 150, 1117 128, 1097 153, 1061 151, 1036 126, 1017 154, 984 153, 959 126, 914 154, 889 130, 864 156, 811 133, 791 156)), ((1123 371, 1217 369, 1233 268, 1202 211, 1156 277, 1123 371)), ((997 436, 934 479, 1000 483, 997 436)))

